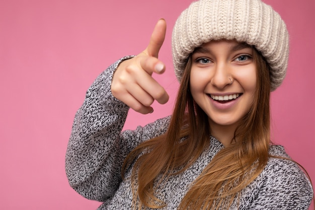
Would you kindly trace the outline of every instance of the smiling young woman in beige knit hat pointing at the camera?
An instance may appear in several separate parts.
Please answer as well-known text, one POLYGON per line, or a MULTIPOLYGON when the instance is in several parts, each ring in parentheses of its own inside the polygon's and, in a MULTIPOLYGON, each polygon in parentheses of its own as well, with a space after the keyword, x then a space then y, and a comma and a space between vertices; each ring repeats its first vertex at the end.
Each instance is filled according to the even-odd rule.
POLYGON ((168 95, 152 77, 166 22, 149 45, 93 83, 66 154, 70 185, 99 209, 307 209, 312 186, 270 142, 270 91, 285 76, 288 34, 259 0, 200 0, 173 30, 180 81, 172 116, 121 132, 129 108, 168 95))

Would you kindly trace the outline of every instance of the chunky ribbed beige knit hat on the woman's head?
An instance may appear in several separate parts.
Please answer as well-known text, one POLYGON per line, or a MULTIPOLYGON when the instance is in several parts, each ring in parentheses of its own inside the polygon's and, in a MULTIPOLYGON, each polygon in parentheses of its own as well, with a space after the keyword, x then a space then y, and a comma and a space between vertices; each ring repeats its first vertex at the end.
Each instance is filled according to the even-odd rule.
POLYGON ((172 35, 175 74, 181 81, 194 49, 211 40, 235 39, 262 53, 271 67, 271 91, 285 77, 289 35, 280 15, 260 0, 200 0, 177 19, 172 35))

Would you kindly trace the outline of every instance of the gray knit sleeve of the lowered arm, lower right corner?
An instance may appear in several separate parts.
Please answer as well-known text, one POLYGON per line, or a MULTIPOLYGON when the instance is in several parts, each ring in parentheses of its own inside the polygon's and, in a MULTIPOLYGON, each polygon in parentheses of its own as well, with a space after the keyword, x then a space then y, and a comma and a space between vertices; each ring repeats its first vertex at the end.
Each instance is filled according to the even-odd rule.
POLYGON ((308 209, 313 190, 297 164, 281 158, 271 158, 263 173, 265 180, 250 209, 308 209))

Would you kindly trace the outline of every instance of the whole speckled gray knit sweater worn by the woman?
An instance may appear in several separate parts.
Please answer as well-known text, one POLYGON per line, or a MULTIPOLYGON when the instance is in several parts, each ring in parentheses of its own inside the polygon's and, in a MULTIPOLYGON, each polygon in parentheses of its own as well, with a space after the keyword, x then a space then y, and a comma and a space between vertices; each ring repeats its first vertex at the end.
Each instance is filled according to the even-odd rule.
MULTIPOLYGON (((129 107, 112 96, 110 85, 119 62, 127 58, 111 65, 87 91, 75 114, 66 152, 69 184, 84 197, 104 202, 99 209, 130 209, 131 169, 122 180, 122 163, 138 144, 163 134, 170 120, 165 117, 121 132, 129 107)), ((209 141, 209 148, 193 165, 157 189, 159 198, 167 203, 163 209, 178 207, 192 181, 223 148, 214 137, 209 141)), ((270 154, 288 157, 281 146, 271 146, 270 154)), ((241 192, 239 206, 233 202, 230 209, 307 209, 312 193, 310 182, 296 164, 270 158, 263 172, 241 192)))

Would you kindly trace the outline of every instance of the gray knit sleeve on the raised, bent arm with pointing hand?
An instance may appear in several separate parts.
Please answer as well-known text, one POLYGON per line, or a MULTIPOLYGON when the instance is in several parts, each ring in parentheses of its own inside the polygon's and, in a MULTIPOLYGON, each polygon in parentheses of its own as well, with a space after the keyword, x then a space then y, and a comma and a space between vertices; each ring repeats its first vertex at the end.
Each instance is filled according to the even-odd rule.
POLYGON ((88 199, 105 201, 118 188, 127 154, 141 142, 164 133, 169 117, 121 132, 129 107, 110 90, 113 73, 124 57, 92 84, 75 114, 65 171, 70 186, 88 199))

